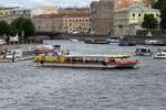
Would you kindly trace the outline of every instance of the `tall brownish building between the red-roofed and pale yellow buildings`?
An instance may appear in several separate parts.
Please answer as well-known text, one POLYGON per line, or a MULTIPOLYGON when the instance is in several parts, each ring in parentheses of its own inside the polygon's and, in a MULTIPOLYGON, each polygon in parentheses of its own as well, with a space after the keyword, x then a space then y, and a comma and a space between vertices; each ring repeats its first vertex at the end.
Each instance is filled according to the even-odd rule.
POLYGON ((112 34, 114 22, 114 2, 95 1, 91 3, 90 26, 93 34, 112 34))

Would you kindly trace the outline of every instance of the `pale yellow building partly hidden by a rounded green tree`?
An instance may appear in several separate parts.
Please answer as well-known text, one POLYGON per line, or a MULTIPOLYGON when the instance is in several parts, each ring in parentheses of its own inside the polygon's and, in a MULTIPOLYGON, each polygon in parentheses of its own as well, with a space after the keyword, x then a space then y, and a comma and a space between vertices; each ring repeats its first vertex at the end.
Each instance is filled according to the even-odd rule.
POLYGON ((118 35, 136 35, 138 30, 142 30, 142 22, 145 14, 154 14, 159 22, 159 10, 149 7, 143 7, 138 3, 133 3, 127 8, 115 11, 114 15, 114 34, 118 35))

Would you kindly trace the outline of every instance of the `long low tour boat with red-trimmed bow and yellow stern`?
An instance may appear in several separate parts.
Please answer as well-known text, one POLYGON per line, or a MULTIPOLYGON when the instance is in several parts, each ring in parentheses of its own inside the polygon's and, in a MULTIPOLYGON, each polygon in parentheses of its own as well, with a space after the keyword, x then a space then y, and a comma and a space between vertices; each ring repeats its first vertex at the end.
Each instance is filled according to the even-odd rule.
POLYGON ((46 53, 37 55, 38 66, 77 67, 77 68, 134 68, 138 61, 128 55, 69 55, 46 53))

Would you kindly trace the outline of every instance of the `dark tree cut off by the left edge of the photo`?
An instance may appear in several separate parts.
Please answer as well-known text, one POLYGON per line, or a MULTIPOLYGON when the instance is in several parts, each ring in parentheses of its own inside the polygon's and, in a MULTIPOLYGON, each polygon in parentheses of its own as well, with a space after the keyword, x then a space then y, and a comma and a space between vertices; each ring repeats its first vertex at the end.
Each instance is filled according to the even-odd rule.
POLYGON ((10 34, 10 28, 9 24, 6 21, 0 21, 0 35, 9 35, 10 34))

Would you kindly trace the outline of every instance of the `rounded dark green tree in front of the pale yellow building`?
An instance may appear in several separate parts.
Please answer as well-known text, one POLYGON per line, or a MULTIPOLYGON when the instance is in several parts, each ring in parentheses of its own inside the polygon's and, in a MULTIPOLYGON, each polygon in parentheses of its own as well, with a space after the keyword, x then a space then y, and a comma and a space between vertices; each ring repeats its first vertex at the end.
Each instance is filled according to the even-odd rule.
POLYGON ((145 14, 142 26, 146 30, 157 29, 158 21, 154 18, 154 14, 145 14))

